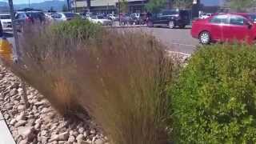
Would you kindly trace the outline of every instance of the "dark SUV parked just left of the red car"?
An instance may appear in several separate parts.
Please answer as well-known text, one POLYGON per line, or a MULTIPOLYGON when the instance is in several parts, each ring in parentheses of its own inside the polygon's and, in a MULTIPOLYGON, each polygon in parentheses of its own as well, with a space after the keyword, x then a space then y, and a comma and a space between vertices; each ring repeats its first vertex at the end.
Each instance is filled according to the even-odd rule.
POLYGON ((178 26, 185 28, 190 25, 190 12, 189 10, 162 10, 158 14, 149 14, 147 26, 168 26, 170 29, 178 26))

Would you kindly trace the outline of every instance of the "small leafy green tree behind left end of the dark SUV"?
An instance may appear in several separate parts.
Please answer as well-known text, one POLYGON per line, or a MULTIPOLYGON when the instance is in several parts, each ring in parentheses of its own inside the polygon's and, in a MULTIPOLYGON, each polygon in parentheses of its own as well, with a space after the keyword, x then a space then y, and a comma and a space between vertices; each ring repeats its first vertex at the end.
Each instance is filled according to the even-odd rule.
POLYGON ((153 13, 157 13, 161 9, 165 8, 166 4, 167 4, 166 0, 150 0, 150 2, 146 4, 146 10, 153 13))

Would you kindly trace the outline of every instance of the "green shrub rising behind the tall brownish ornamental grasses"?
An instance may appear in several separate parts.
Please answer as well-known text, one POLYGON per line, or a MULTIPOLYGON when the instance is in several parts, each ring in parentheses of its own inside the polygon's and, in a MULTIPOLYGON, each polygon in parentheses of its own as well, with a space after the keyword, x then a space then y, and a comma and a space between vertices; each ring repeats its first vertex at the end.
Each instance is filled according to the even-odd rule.
POLYGON ((88 20, 74 19, 67 22, 54 23, 52 30, 64 38, 77 38, 78 40, 94 39, 100 36, 102 27, 88 20))

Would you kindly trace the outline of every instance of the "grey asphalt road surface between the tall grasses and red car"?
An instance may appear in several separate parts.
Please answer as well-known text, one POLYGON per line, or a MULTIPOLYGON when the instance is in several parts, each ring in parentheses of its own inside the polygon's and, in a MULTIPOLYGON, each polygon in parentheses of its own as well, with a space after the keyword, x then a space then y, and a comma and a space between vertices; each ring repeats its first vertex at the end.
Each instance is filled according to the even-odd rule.
MULTIPOLYGON (((135 27, 122 28, 124 30, 142 30, 146 33, 154 35, 159 41, 163 42, 170 51, 192 54, 199 45, 198 39, 194 39, 190 35, 190 28, 186 29, 169 29, 164 27, 135 27)), ((13 34, 5 33, 6 38, 14 44, 13 34)))

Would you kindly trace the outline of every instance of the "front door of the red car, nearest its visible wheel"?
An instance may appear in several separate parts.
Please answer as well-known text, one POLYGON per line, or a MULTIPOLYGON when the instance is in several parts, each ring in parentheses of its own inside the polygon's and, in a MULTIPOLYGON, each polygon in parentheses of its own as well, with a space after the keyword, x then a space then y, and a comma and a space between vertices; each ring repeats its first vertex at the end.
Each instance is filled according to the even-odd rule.
POLYGON ((218 14, 210 18, 210 34, 213 41, 224 42, 226 41, 227 28, 230 25, 229 14, 218 14))

